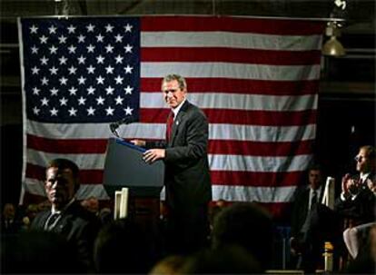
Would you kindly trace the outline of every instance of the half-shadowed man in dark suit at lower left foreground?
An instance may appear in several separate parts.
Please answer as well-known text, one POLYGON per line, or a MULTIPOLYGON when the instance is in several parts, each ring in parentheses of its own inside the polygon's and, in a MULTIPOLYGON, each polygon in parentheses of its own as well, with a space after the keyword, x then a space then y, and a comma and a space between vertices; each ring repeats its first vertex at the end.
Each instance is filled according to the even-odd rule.
POLYGON ((94 238, 99 230, 94 214, 75 201, 74 195, 80 186, 78 173, 77 165, 69 160, 55 159, 49 163, 45 192, 52 207, 40 212, 31 225, 31 230, 61 234, 74 246, 83 266, 77 272, 93 270, 94 238))

